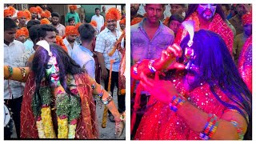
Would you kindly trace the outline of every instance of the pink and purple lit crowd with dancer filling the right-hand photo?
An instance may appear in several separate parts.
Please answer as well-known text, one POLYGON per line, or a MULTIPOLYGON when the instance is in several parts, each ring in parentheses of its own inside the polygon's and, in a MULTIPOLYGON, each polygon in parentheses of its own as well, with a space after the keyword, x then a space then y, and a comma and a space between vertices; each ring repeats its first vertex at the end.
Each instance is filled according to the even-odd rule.
POLYGON ((131 139, 252 139, 251 7, 130 5, 131 139))

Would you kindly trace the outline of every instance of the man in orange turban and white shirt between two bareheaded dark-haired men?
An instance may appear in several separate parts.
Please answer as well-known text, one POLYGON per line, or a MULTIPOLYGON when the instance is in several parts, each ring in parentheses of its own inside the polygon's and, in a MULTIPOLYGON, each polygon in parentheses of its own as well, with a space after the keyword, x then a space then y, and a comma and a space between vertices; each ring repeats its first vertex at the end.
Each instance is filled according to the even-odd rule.
POLYGON ((78 37, 78 29, 76 26, 66 26, 65 34, 66 37, 63 39, 63 42, 67 48, 68 54, 71 57, 72 50, 78 47, 78 42, 75 41, 78 37))

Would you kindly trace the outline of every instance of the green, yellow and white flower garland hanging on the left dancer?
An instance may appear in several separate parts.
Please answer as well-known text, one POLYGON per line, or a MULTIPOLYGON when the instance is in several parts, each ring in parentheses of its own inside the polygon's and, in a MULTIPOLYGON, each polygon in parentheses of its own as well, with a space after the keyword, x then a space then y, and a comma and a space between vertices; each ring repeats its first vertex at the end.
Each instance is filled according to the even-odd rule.
MULTIPOLYGON (((58 116, 58 138, 75 138, 75 130, 81 113, 80 96, 73 76, 67 76, 67 84, 73 95, 66 94, 62 86, 58 87, 55 96, 56 114, 58 116)), ((56 138, 51 118, 50 102, 53 96, 49 86, 42 86, 39 95, 34 94, 32 101, 33 114, 37 119, 39 138, 56 138)))

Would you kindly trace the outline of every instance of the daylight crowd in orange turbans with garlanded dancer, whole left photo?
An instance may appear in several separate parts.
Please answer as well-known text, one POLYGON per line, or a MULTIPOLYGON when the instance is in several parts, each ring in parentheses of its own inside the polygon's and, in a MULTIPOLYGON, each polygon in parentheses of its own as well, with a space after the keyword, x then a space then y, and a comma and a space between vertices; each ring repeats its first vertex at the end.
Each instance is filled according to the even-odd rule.
POLYGON ((125 17, 115 7, 102 6, 102 13, 95 7, 86 23, 76 5, 69 9, 67 25, 47 5, 4 9, 5 119, 11 115, 14 121, 6 122, 5 139, 14 126, 18 139, 97 139, 96 106, 102 104, 109 111, 105 121, 115 122, 117 137, 125 128, 126 82, 118 78, 125 69, 125 26, 117 28, 119 22, 125 25, 125 17))

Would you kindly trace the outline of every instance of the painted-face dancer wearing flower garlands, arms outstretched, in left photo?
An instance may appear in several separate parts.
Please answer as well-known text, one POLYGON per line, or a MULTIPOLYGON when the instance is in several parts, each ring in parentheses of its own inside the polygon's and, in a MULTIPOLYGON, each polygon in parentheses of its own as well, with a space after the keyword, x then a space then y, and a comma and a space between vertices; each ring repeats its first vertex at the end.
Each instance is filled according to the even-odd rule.
POLYGON ((114 115, 122 134, 122 115, 106 92, 60 46, 37 43, 31 68, 5 66, 5 78, 26 82, 21 111, 21 138, 98 138, 93 94, 114 115))

